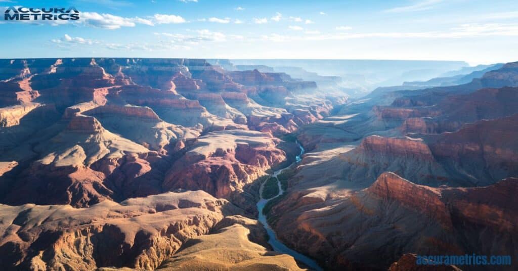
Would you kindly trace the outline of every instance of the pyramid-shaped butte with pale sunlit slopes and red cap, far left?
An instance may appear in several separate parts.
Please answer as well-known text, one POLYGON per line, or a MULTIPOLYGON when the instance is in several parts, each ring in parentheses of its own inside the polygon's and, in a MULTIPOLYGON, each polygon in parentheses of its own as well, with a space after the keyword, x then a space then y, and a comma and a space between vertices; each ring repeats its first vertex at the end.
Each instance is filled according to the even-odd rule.
POLYGON ((71 118, 65 130, 33 151, 38 160, 17 177, 5 202, 89 206, 110 198, 105 175, 119 165, 125 152, 156 156, 82 115, 71 118))

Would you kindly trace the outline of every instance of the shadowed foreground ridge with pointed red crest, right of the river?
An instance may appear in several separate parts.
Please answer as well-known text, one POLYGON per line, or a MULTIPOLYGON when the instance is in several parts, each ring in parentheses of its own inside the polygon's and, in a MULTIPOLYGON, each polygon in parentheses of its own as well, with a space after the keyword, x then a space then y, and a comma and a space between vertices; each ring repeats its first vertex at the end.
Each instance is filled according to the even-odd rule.
POLYGON ((480 188, 430 188, 383 173, 365 190, 326 201, 289 194, 269 220, 281 240, 329 269, 387 268, 409 252, 516 255, 505 245, 517 231, 516 189, 516 178, 480 188), (488 245, 462 241, 470 238, 488 245))

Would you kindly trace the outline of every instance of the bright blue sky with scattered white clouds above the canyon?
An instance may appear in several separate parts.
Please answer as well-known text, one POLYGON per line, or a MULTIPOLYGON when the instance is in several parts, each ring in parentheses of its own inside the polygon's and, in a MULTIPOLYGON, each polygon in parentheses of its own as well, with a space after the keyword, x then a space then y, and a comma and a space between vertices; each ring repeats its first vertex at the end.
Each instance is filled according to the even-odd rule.
POLYGON ((2 15, 0 58, 518 61, 516 0, 0 0, 10 6, 80 19, 2 15))

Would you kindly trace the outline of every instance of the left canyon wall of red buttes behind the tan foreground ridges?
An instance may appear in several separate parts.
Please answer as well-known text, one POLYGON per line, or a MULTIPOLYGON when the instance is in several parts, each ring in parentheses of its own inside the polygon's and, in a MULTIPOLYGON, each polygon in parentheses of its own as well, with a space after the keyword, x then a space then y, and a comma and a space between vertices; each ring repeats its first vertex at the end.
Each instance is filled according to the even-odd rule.
POLYGON ((287 102, 302 88, 293 85, 311 83, 276 73, 251 78, 205 60, 2 60, 0 75, 0 202, 9 204, 88 207, 177 188, 234 198, 286 160, 271 134, 331 108, 322 109, 328 99, 305 102, 312 109, 305 111, 287 102), (238 143, 222 146, 227 136, 238 143), (199 144, 225 151, 192 160, 199 144))

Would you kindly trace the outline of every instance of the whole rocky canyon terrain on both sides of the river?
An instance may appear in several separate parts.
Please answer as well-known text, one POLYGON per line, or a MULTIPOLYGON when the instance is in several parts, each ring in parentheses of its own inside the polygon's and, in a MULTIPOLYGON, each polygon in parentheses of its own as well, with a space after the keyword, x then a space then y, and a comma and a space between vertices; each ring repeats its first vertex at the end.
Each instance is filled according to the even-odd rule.
POLYGON ((306 268, 264 226, 324 269, 518 259, 517 63, 350 100, 338 76, 216 62, 0 60, 0 265, 306 268))

